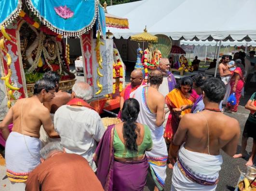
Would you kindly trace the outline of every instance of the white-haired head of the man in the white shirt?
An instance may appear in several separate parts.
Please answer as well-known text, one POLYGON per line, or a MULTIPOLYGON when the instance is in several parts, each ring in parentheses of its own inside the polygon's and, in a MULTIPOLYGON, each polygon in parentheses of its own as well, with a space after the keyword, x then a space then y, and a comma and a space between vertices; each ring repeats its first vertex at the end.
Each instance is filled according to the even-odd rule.
POLYGON ((85 82, 77 82, 72 87, 75 97, 88 101, 93 97, 93 88, 85 82))

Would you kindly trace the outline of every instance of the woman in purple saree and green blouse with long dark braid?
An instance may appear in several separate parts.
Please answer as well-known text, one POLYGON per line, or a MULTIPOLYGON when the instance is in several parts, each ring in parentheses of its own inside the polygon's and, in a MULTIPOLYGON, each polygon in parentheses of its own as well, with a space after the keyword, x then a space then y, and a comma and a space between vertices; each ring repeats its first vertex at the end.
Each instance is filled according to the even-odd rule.
POLYGON ((97 177, 105 191, 143 191, 148 173, 145 151, 152 148, 147 125, 135 122, 139 103, 130 98, 122 123, 108 126, 94 154, 97 177))

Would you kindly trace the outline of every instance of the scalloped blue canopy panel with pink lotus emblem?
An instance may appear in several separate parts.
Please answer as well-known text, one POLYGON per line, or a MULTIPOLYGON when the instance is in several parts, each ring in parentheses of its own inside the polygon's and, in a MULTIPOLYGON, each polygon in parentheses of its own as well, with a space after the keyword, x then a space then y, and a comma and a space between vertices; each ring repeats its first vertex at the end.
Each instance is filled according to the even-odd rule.
POLYGON ((64 36, 79 36, 90 30, 99 12, 98 0, 27 0, 27 3, 43 24, 64 36))

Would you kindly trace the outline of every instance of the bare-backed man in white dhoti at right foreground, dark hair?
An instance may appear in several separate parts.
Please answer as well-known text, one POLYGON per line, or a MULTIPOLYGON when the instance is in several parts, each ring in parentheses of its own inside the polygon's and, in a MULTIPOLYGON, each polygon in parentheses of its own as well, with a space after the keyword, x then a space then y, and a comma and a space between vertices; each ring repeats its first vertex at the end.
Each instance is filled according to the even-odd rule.
MULTIPOLYGON (((219 150, 229 156, 236 153, 240 126, 220 111, 224 94, 223 82, 217 78, 206 80, 202 85, 204 110, 180 120, 173 140, 181 147, 173 169, 172 191, 215 191, 223 162, 219 150)), ((171 157, 176 158, 177 151, 173 150, 171 157)))

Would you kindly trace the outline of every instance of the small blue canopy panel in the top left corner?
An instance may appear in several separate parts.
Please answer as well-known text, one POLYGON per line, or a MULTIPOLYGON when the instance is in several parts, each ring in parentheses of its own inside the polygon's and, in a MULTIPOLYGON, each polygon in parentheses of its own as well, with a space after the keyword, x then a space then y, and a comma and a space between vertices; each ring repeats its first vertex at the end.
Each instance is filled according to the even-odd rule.
POLYGON ((11 23, 21 11, 21 0, 0 0, 0 26, 11 23))

